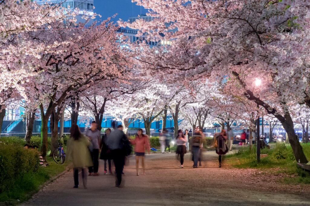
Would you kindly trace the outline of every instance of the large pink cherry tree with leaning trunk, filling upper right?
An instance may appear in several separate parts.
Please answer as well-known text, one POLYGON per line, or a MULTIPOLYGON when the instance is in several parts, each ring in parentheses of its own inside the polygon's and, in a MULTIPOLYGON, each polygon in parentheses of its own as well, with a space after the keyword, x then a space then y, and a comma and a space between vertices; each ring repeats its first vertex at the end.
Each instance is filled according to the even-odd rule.
MULTIPOLYGON (((236 79, 238 90, 243 90, 249 101, 281 122, 295 159, 308 162, 288 108, 292 102, 309 105, 310 100, 307 1, 135 2, 149 9, 148 15, 154 20, 137 20, 129 25, 131 28, 139 29, 150 41, 173 39, 166 48, 169 51, 158 52, 160 59, 148 65, 150 70, 183 77, 201 75, 217 81, 225 75, 236 79), (172 32, 175 28, 177 31, 172 32), (255 78, 264 84, 253 93, 255 78), (267 101, 270 96, 272 102, 267 101)), ((148 63, 148 58, 156 57, 154 54, 156 49, 144 49, 139 61, 148 63)))

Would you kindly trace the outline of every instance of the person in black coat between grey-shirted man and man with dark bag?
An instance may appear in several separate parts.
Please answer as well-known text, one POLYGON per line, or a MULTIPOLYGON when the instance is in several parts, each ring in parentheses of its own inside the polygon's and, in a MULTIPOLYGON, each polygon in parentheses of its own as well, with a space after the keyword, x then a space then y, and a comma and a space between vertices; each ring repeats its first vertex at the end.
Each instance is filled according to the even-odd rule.
POLYGON ((105 130, 105 134, 102 135, 101 141, 100 141, 100 160, 103 160, 104 163, 104 174, 112 174, 112 169, 111 169, 111 151, 108 148, 107 145, 107 138, 108 135, 111 133, 111 129, 108 128, 105 130), (107 161, 108 161, 108 166, 109 166, 109 173, 107 171, 107 161))

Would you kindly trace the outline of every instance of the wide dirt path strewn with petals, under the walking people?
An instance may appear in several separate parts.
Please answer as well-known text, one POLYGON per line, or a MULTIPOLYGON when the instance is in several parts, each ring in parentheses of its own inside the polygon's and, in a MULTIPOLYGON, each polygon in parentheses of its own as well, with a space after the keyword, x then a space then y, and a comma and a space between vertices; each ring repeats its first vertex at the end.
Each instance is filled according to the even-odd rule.
MULTIPOLYGON (((274 178, 261 178, 254 169, 218 168, 214 151, 205 154, 203 167, 193 169, 186 154, 184 169, 174 154, 147 157, 147 175, 136 176, 133 158, 125 167, 125 186, 114 187, 114 176, 88 178, 88 189, 73 189, 73 174, 43 188, 24 205, 101 206, 101 205, 310 205, 310 186, 287 186, 274 178), (271 181, 272 179, 272 181, 271 181)), ((101 165, 103 165, 103 162, 101 165)))

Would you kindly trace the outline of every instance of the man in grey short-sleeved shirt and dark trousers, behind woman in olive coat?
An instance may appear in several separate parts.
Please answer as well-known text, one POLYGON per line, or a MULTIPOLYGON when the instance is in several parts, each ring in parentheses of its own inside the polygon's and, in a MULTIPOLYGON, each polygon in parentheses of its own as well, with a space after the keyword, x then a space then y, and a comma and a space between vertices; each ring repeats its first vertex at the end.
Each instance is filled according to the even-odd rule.
POLYGON ((89 138, 92 144, 91 159, 93 160, 93 165, 88 168, 88 175, 98 176, 99 168, 99 145, 100 145, 100 131, 97 129, 98 125, 96 121, 91 122, 91 128, 86 130, 86 137, 89 138))

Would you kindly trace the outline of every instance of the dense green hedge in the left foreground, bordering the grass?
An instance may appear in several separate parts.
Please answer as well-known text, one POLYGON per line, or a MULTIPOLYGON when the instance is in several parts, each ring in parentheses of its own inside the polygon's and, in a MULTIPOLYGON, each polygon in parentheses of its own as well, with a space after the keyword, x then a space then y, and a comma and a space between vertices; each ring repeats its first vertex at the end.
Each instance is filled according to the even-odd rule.
POLYGON ((12 189, 25 174, 37 172, 40 165, 38 150, 25 149, 16 142, 0 143, 0 193, 12 189))

